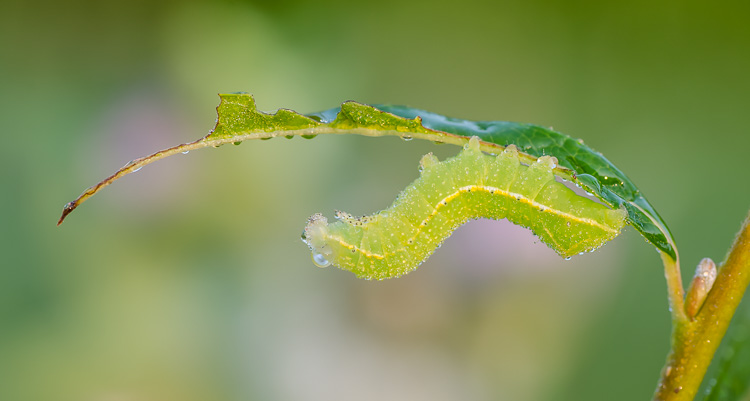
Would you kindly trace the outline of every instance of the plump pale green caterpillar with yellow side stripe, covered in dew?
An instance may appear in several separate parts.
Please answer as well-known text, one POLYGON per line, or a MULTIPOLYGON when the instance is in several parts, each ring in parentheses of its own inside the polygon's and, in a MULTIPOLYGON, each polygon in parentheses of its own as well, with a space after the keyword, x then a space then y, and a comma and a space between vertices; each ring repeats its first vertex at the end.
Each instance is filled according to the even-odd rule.
POLYGON ((421 176, 386 210, 352 217, 336 212, 308 220, 302 240, 320 267, 334 264, 366 279, 398 277, 417 268, 450 234, 477 218, 503 219, 531 229, 562 257, 592 251, 617 236, 626 212, 582 197, 555 180, 557 159, 520 163, 510 145, 498 156, 472 137, 453 158, 431 153, 421 176))

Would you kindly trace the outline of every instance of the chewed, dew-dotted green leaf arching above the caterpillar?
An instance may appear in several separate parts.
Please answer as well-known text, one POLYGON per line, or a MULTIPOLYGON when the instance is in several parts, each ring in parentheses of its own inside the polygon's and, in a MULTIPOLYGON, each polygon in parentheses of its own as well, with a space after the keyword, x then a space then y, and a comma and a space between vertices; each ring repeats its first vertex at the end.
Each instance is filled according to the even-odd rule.
POLYGON ((583 141, 559 132, 533 124, 473 122, 404 106, 368 106, 356 102, 345 102, 339 108, 309 115, 286 109, 267 114, 258 111, 249 94, 219 96, 218 120, 211 133, 195 142, 131 161, 65 205, 58 224, 83 201, 120 177, 164 157, 207 146, 276 136, 310 138, 319 134, 396 135, 463 145, 470 137, 478 136, 483 141, 482 150, 487 152, 497 153, 515 144, 522 151, 519 157, 529 164, 543 155, 557 157, 560 166, 555 174, 572 179, 612 208, 624 206, 628 222, 657 249, 676 259, 669 229, 625 174, 583 141))

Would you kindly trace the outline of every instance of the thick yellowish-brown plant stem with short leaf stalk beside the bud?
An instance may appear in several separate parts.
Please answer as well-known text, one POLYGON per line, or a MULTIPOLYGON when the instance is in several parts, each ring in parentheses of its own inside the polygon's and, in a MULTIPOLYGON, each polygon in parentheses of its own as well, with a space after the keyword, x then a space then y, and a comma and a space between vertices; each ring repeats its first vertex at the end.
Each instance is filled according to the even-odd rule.
MULTIPOLYGON (((666 265, 665 261, 665 267, 666 265)), ((669 283, 670 273, 669 269, 667 270, 669 283)), ((695 397, 748 283, 750 213, 745 218, 726 260, 721 264, 716 281, 695 319, 681 321, 673 318, 676 324, 672 328, 672 350, 662 369, 654 400, 689 401, 695 397)), ((671 284, 669 287, 672 290, 671 284)), ((673 292, 670 291, 670 304, 674 306, 677 303, 672 303, 673 296, 673 292)), ((682 314, 685 314, 684 310, 682 314)))

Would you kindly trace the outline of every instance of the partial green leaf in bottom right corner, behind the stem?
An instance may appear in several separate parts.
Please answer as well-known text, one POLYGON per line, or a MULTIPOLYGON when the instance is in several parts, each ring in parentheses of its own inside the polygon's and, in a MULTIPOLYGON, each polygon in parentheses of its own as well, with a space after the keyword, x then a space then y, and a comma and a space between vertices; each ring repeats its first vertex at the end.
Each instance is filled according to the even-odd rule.
POLYGON ((750 303, 737 313, 704 401, 750 400, 750 303))

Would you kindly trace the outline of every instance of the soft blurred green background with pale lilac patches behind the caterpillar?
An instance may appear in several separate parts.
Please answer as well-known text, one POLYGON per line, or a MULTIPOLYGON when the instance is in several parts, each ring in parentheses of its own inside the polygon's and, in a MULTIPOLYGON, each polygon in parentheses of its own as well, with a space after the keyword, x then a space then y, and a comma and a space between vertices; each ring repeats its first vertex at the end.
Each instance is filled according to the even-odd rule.
POLYGON ((635 230, 563 261, 478 221, 416 272, 317 269, 306 218, 388 206, 396 138, 191 152, 216 93, 554 126, 625 171, 692 275, 750 198, 746 1, 23 2, 0 13, 0 399, 642 400, 669 342, 635 230))

